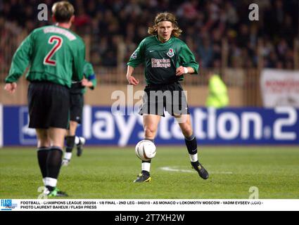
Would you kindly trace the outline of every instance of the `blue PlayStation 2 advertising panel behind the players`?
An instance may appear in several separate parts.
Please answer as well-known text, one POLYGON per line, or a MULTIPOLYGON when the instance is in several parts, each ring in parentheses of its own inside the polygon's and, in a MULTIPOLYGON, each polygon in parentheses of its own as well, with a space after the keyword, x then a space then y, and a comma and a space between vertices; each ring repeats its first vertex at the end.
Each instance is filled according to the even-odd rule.
MULTIPOLYGON (((190 108, 194 134, 201 145, 299 144, 299 109, 279 108, 190 108)), ((36 144, 26 106, 3 107, 4 146, 36 144)), ((110 107, 84 106, 82 125, 77 135, 87 145, 134 145, 143 139, 140 115, 117 115, 110 107)), ((184 144, 177 122, 164 117, 155 139, 157 144, 184 144)))

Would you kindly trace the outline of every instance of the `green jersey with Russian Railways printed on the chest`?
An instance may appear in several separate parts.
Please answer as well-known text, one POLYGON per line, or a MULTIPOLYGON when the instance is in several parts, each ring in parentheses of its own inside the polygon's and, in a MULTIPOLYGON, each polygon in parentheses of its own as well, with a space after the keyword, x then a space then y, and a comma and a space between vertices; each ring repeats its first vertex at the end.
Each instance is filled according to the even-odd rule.
POLYGON ((193 53, 184 41, 171 37, 165 43, 157 36, 146 37, 129 59, 127 65, 136 68, 144 63, 144 74, 147 84, 167 84, 183 80, 184 76, 177 77, 176 70, 180 65, 191 67, 198 74, 198 63, 193 53))

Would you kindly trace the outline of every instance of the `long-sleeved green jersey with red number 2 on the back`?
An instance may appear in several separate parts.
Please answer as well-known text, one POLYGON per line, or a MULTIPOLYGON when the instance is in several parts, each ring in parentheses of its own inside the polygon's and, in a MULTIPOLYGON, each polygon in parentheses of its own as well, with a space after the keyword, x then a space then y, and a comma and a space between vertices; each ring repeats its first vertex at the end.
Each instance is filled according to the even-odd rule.
POLYGON ((70 87, 83 77, 84 41, 74 32, 56 25, 35 29, 13 56, 6 83, 16 82, 30 65, 26 79, 70 87))

